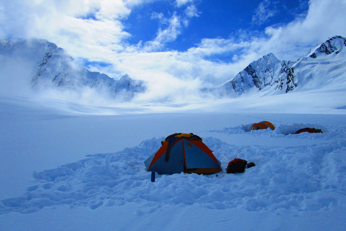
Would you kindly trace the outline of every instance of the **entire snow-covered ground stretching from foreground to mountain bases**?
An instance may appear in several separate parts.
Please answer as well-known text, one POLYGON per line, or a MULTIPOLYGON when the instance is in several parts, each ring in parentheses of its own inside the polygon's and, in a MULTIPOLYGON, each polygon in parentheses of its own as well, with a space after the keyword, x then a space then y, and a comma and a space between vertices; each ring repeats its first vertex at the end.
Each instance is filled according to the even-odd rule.
POLYGON ((0 94, 0 230, 344 230, 345 95, 96 107, 0 94), (276 129, 247 132, 263 120, 276 129), (293 134, 304 127, 324 133, 293 134), (224 171, 256 166, 151 182, 143 161, 174 132, 201 136, 224 171))

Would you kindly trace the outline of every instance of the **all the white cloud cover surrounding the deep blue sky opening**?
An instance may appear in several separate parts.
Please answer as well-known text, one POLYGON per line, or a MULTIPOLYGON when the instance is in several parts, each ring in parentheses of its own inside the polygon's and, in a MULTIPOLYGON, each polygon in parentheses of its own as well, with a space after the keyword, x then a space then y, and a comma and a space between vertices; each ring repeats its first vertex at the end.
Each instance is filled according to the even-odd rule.
MULTIPOLYGON (((281 60, 295 60, 330 36, 346 36, 346 2, 310 0, 307 14, 298 15, 288 24, 272 25, 256 32, 238 30, 230 32, 227 38, 202 38, 186 51, 171 51, 165 45, 188 29, 191 17, 201 14, 193 1, 177 0, 176 6, 183 10, 176 8, 169 16, 162 12, 153 14, 160 20, 160 27, 152 41, 129 44, 131 34, 126 31, 124 21, 131 14, 131 8, 146 2, 2 1, 0 35, 46 38, 74 58, 108 63, 90 66, 90 70, 115 79, 128 73, 133 79, 148 81, 152 91, 141 95, 146 100, 155 100, 155 97, 178 100, 181 95, 186 96, 185 100, 195 99, 201 94, 200 87, 220 85, 270 52, 281 60), (176 96, 179 90, 180 96, 176 96)), ((265 0, 258 6, 253 20, 263 23, 273 14, 275 8, 273 10, 270 1, 265 0)))

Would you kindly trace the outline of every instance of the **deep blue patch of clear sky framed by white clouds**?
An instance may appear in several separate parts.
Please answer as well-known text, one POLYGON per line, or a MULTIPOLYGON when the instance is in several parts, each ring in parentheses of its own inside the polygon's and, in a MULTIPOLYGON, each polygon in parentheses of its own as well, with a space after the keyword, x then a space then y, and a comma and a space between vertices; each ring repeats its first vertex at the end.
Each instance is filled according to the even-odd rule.
MULTIPOLYGON (((191 5, 190 5, 191 6, 191 5)), ((297 15, 307 14, 307 0, 282 1, 242 1, 219 0, 197 1, 194 16, 188 18, 188 25, 181 25, 180 34, 173 41, 165 44, 166 50, 186 51, 196 46, 203 38, 229 38, 239 31, 247 30, 263 33, 270 25, 285 24, 297 15)), ((126 31, 131 34, 130 43, 151 41, 158 28, 167 27, 167 22, 155 17, 162 14, 164 19, 174 14, 181 20, 186 7, 177 7, 172 1, 156 1, 135 6, 124 20, 126 31)))

